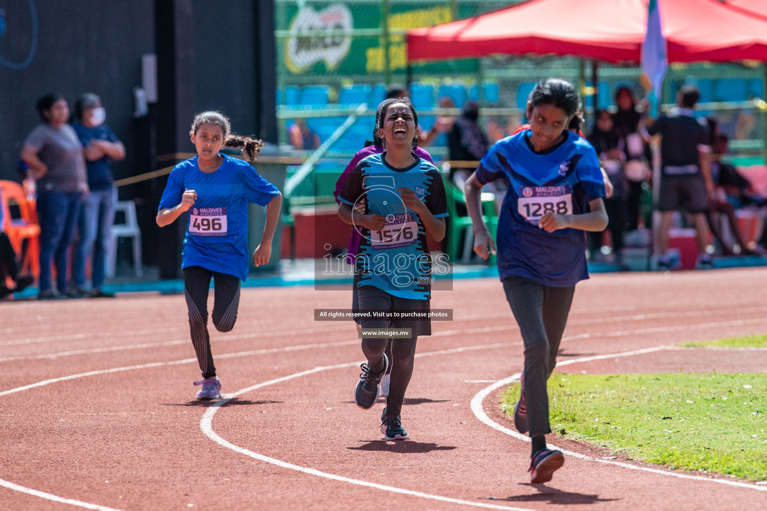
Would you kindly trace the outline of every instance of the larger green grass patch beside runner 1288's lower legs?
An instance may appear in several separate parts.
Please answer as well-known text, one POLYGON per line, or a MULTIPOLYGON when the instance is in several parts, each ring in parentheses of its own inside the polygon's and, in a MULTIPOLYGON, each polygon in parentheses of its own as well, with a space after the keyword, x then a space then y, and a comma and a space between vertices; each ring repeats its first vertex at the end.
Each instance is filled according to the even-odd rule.
MULTIPOLYGON (((683 470, 767 480, 767 374, 570 375, 548 380, 561 437, 683 470)), ((512 414, 519 385, 502 395, 512 414)))

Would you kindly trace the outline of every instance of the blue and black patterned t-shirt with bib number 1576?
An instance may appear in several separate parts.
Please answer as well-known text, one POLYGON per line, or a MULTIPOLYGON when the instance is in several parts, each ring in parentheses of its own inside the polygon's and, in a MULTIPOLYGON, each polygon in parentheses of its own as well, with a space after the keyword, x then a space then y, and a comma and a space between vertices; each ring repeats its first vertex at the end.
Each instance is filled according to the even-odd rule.
MULTIPOLYGON (((397 188, 410 188, 436 218, 447 216, 442 175, 436 167, 413 153, 416 162, 395 169, 386 152, 362 159, 341 188, 338 200, 356 213, 386 217, 380 231, 356 227, 362 239, 357 252, 359 286, 373 286, 392 296, 429 300, 433 260, 426 243, 426 228, 415 211, 405 207, 397 188)), ((354 218, 354 215, 352 215, 354 218)))

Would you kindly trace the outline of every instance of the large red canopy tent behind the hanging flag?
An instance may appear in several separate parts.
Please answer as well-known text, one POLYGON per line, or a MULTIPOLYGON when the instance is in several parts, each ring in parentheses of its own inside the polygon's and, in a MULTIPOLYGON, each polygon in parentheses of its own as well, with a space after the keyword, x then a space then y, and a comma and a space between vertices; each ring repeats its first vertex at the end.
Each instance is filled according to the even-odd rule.
MULTIPOLYGON (((717 0, 658 2, 670 62, 767 61, 767 19, 717 0)), ((532 0, 410 30, 408 60, 555 54, 637 63, 647 29, 647 4, 648 0, 532 0)))

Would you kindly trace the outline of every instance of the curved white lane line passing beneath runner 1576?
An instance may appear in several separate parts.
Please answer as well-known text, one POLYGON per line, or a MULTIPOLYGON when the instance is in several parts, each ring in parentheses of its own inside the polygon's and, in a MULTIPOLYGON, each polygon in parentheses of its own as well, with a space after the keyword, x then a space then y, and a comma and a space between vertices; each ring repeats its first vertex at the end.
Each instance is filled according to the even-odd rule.
MULTIPOLYGON (((486 346, 467 346, 466 348, 444 349, 444 350, 440 350, 436 352, 420 353, 416 355, 416 357, 444 355, 446 353, 459 353, 459 352, 472 351, 476 349, 492 349, 492 348, 499 348, 502 346, 509 346, 509 344, 510 343, 508 342, 502 342, 499 344, 489 344, 486 346)), ((315 367, 314 369, 309 369, 308 371, 297 372, 293 375, 283 376, 281 378, 275 378, 273 380, 269 380, 268 382, 258 383, 256 385, 243 388, 242 390, 236 391, 234 394, 225 395, 223 399, 216 401, 216 403, 214 403, 205 411, 205 414, 202 415, 202 419, 199 421, 199 428, 202 431, 202 433, 206 434, 207 437, 209 437, 212 441, 216 442, 216 444, 219 444, 222 447, 226 447, 227 449, 234 450, 235 452, 239 454, 245 454, 245 456, 252 457, 255 460, 263 461, 265 463, 276 465, 282 468, 287 468, 290 470, 296 470, 302 473, 308 473, 311 476, 340 481, 341 483, 350 483, 357 486, 366 486, 368 488, 375 488, 376 490, 384 490, 391 493, 400 493, 403 495, 416 496, 423 499, 439 500, 441 502, 447 502, 447 503, 453 503, 453 504, 463 504, 464 506, 481 507, 484 509, 505 509, 507 511, 534 511, 533 509, 525 509, 521 507, 499 506, 497 504, 480 503, 480 502, 473 502, 471 500, 461 500, 461 499, 454 499, 452 497, 447 497, 447 496, 432 495, 430 493, 423 493, 423 492, 414 491, 414 490, 406 490, 404 488, 397 488, 396 486, 387 486, 385 484, 370 483, 370 481, 351 479, 351 477, 338 476, 334 473, 327 473, 327 472, 322 472, 321 470, 316 470, 313 468, 301 467, 301 465, 291 464, 286 461, 277 460, 272 457, 264 456, 263 454, 255 453, 252 450, 248 450, 243 447, 236 446, 235 444, 232 444, 229 441, 225 441, 222 437, 219 437, 219 434, 217 434, 216 431, 213 431, 213 427, 212 427, 213 416, 216 414, 216 411, 219 411, 219 408, 221 408, 223 405, 229 402, 232 398, 236 398, 237 396, 243 395, 246 392, 254 391, 257 388, 266 387, 268 385, 275 385, 276 383, 286 382, 293 378, 301 378, 301 376, 311 375, 321 371, 328 371, 330 369, 341 369, 345 367, 352 367, 354 365, 359 365, 362 362, 364 361, 348 362, 346 364, 338 364, 338 365, 326 365, 324 367, 315 367)))

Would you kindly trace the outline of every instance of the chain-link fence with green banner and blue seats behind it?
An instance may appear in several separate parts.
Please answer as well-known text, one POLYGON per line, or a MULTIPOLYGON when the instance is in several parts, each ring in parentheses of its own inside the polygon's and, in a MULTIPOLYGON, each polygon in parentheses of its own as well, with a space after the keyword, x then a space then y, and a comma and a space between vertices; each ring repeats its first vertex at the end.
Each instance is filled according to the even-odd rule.
MULTIPOLYGON (((430 129, 439 115, 457 115, 467 99, 482 106, 482 126, 491 142, 525 122, 524 106, 535 82, 563 77, 584 91, 587 123, 594 107, 593 64, 566 57, 493 57, 415 64, 407 67, 407 29, 469 18, 514 4, 506 0, 276 0, 278 117, 280 139, 308 156, 330 139, 361 103, 367 113, 324 153, 314 167, 314 186, 303 183, 295 195, 329 196, 346 161, 372 138, 374 108, 387 84, 410 84, 420 125, 430 129), (446 108, 445 108, 446 107, 446 108)), ((673 103, 676 90, 694 83, 701 90, 700 114, 713 116, 731 139, 739 162, 761 162, 767 106, 765 68, 748 64, 672 65, 663 90, 673 103)), ((644 95, 637 67, 597 68, 597 108, 614 108, 614 94, 626 86, 644 95)), ((447 158, 446 136, 429 146, 447 158)), ((311 180, 308 180, 311 183, 311 180)))

